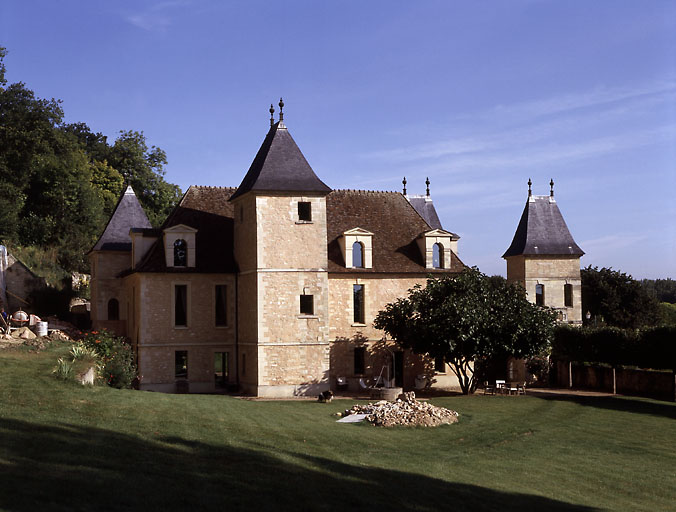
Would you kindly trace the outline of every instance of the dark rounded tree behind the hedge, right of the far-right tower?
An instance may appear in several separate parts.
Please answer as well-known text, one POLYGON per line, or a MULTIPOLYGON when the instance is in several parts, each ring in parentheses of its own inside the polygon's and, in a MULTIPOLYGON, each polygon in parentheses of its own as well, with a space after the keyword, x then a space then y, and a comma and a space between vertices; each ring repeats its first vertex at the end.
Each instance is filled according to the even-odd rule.
POLYGON ((633 277, 612 268, 582 269, 582 316, 614 327, 636 329, 660 323, 657 300, 633 277))

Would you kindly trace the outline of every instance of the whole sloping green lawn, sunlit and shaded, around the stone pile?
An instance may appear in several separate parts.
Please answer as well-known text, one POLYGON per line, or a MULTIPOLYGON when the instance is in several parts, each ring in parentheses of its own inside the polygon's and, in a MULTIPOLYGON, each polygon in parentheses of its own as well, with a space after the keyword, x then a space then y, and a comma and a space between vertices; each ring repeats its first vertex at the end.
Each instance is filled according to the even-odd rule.
POLYGON ((668 510, 676 405, 449 397, 435 429, 339 424, 335 400, 81 387, 65 346, 0 351, 0 508, 668 510))

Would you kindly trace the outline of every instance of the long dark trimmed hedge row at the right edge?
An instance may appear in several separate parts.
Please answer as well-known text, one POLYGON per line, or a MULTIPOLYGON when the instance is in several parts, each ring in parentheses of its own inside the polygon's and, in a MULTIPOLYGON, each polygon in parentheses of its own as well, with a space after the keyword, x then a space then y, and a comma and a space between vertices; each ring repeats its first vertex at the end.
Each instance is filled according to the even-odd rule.
POLYGON ((552 357, 611 366, 676 369, 676 327, 620 329, 558 326, 552 357))

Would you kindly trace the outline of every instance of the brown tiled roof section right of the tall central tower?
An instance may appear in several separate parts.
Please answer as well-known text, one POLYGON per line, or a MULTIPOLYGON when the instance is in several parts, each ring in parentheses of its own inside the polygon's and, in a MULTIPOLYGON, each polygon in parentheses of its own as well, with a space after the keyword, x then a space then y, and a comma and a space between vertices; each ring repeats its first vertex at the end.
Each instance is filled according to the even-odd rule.
MULTIPOLYGON (((329 272, 335 273, 438 273, 449 269, 426 269, 416 243, 430 226, 399 192, 334 190, 326 197, 329 272), (363 228, 373 236, 373 268, 345 268, 339 237, 353 228, 363 228)), ((455 253, 450 271, 464 265, 455 253)))

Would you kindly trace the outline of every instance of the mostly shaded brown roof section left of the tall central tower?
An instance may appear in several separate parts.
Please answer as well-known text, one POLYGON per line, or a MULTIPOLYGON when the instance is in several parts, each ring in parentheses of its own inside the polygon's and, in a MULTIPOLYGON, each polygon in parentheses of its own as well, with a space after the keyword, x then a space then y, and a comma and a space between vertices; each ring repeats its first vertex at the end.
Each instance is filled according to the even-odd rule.
MULTIPOLYGON (((169 273, 233 273, 237 272, 233 250, 234 209, 229 202, 235 192, 232 187, 191 186, 178 206, 156 233, 158 240, 136 266, 136 272, 169 273), (162 230, 185 224, 197 229, 195 267, 166 266, 162 230)), ((144 235, 153 231, 144 231, 144 235)), ((128 273, 128 272, 127 272, 128 273)))

